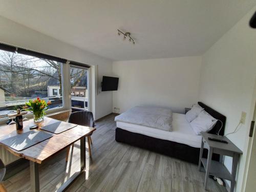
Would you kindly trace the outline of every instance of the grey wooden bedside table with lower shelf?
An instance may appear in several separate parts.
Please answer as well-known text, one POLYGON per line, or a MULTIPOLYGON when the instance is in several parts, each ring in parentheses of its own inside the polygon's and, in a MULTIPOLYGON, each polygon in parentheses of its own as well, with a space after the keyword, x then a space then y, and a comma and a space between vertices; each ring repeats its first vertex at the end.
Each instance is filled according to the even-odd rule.
POLYGON ((236 183, 238 160, 241 154, 243 154, 243 152, 236 145, 234 145, 227 137, 209 134, 205 132, 202 133, 202 143, 201 143, 198 170, 199 172, 201 172, 201 164, 203 164, 203 167, 205 169, 204 189, 205 190, 207 189, 209 175, 212 175, 212 176, 216 176, 216 177, 231 181, 230 192, 233 192, 234 184, 236 183), (209 140, 208 137, 212 137, 215 139, 222 139, 227 141, 228 143, 212 141, 212 140, 209 140), (202 157, 204 147, 208 149, 207 159, 202 157), (211 160, 213 153, 220 154, 220 162, 211 160), (224 155, 233 158, 231 174, 222 163, 224 155))

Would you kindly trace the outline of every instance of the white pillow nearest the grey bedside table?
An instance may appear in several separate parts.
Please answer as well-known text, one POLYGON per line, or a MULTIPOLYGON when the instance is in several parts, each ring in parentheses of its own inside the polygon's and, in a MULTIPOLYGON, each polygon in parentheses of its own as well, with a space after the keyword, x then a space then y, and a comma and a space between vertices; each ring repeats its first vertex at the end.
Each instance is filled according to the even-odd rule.
POLYGON ((197 135, 201 135, 200 132, 210 131, 217 121, 217 119, 209 115, 206 111, 202 111, 198 117, 189 124, 197 135))

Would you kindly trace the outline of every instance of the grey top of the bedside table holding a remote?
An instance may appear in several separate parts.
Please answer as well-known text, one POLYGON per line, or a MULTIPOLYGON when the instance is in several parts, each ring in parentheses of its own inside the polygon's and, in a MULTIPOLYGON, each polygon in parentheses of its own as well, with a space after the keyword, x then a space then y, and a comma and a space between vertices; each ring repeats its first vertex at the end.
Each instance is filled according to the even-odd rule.
POLYGON ((230 152, 234 152, 234 153, 238 153, 238 154, 243 154, 243 152, 225 136, 220 136, 220 135, 209 134, 209 133, 203 132, 202 137, 208 143, 208 145, 212 148, 218 148, 220 150, 226 150, 226 151, 230 151, 230 152), (222 140, 227 141, 228 143, 212 141, 212 140, 209 140, 208 137, 212 137, 215 139, 222 139, 222 140))

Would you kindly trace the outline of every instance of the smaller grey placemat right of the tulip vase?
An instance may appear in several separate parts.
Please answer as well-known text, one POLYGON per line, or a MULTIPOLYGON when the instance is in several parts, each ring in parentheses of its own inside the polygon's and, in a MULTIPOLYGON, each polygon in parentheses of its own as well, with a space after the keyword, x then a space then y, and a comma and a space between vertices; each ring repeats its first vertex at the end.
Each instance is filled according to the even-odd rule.
POLYGON ((58 121, 58 122, 41 127, 41 130, 45 130, 55 134, 60 134, 62 132, 72 129, 75 126, 77 125, 73 123, 58 121))

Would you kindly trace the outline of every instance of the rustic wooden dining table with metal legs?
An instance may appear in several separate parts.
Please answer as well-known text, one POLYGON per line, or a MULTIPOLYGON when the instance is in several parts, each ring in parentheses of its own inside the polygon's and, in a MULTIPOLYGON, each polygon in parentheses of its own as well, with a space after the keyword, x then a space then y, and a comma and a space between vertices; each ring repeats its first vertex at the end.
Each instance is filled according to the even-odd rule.
MULTIPOLYGON (((58 120, 45 117, 45 120, 39 124, 39 128, 37 130, 42 131, 40 130, 40 127, 57 121, 58 120)), ((33 119, 24 121, 24 128, 22 131, 16 131, 15 124, 2 126, 0 127, 0 140, 29 132, 29 127, 32 124, 34 124, 33 119)), ((5 146, 5 148, 7 148, 7 150, 10 151, 13 155, 28 159, 30 161, 31 190, 37 192, 40 188, 38 164, 43 163, 58 152, 72 145, 74 142, 80 140, 80 170, 76 172, 72 177, 70 177, 69 180, 63 183, 63 185, 57 190, 62 191, 65 190, 83 172, 84 168, 86 167, 85 140, 86 137, 91 135, 95 130, 96 129, 93 127, 78 125, 60 134, 53 134, 53 137, 50 139, 37 143, 19 152, 6 145, 3 145, 2 143, 0 144, 5 146)))

